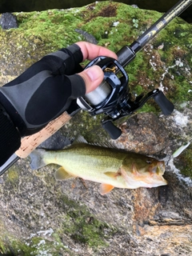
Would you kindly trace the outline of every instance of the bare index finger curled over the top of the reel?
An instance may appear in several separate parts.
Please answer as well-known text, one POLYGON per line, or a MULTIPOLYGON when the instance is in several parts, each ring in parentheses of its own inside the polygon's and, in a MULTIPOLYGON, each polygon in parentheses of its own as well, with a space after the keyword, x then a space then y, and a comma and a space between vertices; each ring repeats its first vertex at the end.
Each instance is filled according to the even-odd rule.
POLYGON ((76 44, 81 48, 83 61, 85 59, 92 60, 98 56, 107 56, 111 58, 118 59, 117 55, 113 51, 106 49, 102 46, 94 45, 90 42, 76 42, 76 44))

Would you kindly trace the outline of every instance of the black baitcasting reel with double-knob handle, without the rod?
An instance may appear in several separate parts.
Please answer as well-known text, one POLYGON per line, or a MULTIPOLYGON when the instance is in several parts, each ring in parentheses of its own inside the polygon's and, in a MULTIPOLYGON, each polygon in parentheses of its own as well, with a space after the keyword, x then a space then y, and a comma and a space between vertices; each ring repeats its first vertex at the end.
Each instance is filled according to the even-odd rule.
MULTIPOLYGON (((127 49, 126 49, 127 50, 127 49)), ((98 88, 84 98, 77 100, 82 110, 88 111, 91 115, 105 113, 106 118, 102 120, 102 127, 110 134, 111 138, 118 138, 122 130, 114 126, 114 121, 132 114, 138 110, 149 98, 154 98, 163 114, 171 114, 174 105, 166 98, 161 90, 150 91, 144 97, 143 94, 132 100, 128 86, 129 77, 126 70, 114 58, 98 57, 90 62, 86 68, 98 65, 104 72, 104 80, 98 88)))

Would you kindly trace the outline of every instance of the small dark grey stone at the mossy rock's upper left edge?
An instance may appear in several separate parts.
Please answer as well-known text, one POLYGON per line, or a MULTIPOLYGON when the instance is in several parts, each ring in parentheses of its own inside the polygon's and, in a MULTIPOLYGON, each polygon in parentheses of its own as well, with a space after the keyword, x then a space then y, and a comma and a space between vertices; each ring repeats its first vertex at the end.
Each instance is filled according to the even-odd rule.
POLYGON ((0 18, 0 24, 3 30, 18 28, 17 18, 14 14, 4 13, 0 18))

